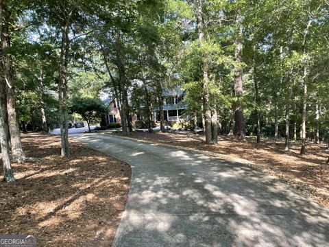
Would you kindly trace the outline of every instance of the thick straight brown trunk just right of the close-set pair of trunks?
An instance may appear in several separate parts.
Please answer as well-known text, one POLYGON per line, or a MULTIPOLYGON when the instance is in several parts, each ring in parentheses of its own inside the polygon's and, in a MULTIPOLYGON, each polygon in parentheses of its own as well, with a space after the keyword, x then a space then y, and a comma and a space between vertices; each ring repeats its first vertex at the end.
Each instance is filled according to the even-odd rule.
POLYGON ((236 102, 234 104, 235 112, 235 128, 234 135, 236 139, 244 140, 245 139, 245 117, 243 116, 243 69, 241 67, 242 62, 242 35, 243 27, 241 25, 242 18, 239 14, 236 16, 236 26, 239 33, 236 35, 235 40, 235 75, 234 75, 234 93, 236 97, 236 102))

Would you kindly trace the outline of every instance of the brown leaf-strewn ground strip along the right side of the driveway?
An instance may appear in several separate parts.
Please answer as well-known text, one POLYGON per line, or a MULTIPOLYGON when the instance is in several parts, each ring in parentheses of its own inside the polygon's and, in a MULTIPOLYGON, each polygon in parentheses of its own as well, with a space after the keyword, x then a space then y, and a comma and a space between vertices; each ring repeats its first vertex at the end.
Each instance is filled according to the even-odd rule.
MULTIPOLYGON (((112 133, 121 136, 120 133, 112 133)), ((302 193, 314 198, 329 208, 329 165, 326 165, 329 152, 327 145, 307 143, 306 155, 300 155, 300 143, 291 143, 291 150, 284 151, 284 141, 254 138, 236 141, 234 137, 220 136, 216 145, 206 145, 204 136, 192 132, 133 132, 129 135, 153 143, 175 145, 211 152, 215 156, 230 161, 251 165, 256 169, 277 176, 302 193)))

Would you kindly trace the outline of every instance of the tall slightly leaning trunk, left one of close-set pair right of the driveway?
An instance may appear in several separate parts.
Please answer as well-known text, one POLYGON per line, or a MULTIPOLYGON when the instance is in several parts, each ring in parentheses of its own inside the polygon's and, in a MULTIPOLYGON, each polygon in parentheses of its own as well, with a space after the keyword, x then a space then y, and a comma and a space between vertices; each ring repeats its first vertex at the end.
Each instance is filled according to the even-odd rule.
MULTIPOLYGON (((197 8, 197 30, 199 33, 199 43, 204 41, 204 19, 203 19, 203 10, 201 0, 196 2, 197 8)), ((209 95, 209 76, 208 76, 208 64, 206 58, 202 59, 202 83, 204 88, 203 93, 203 114, 204 114, 204 130, 206 135, 206 143, 212 144, 212 118, 211 118, 211 109, 210 109, 210 95, 209 95)))

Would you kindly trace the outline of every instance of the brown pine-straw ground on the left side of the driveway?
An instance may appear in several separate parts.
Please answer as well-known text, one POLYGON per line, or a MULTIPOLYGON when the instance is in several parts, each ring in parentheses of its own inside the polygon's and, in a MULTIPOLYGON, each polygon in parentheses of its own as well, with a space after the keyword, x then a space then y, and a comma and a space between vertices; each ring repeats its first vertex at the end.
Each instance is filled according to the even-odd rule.
MULTIPOLYGON (((0 182, 0 233, 37 235, 38 246, 110 246, 130 184, 130 166, 71 140, 23 134, 36 163, 13 164, 15 183, 0 182)), ((1 164, 2 166, 2 164, 1 164)), ((1 177, 3 174, 1 174, 1 177)))

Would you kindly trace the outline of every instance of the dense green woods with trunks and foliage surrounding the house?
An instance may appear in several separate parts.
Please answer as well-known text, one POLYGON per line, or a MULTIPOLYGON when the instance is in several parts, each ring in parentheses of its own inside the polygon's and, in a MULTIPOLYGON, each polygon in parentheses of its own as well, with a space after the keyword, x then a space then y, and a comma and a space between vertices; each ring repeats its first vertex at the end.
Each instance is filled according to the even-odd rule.
POLYGON ((101 91, 119 100, 125 135, 132 114, 151 123, 157 106, 164 130, 162 94, 179 87, 186 125, 204 128, 207 144, 284 138, 302 155, 329 143, 328 0, 0 0, 0 20, 7 182, 27 159, 27 124, 59 125, 66 156, 73 99, 101 91))

